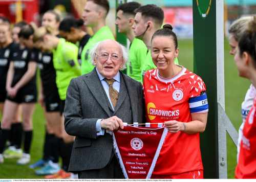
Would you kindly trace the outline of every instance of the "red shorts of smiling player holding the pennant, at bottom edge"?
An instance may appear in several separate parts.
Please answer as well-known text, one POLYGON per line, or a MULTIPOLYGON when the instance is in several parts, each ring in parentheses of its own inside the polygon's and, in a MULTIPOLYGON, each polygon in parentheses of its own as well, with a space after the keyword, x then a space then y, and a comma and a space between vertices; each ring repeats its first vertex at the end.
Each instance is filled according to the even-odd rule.
POLYGON ((203 179, 204 171, 203 170, 195 170, 184 172, 180 174, 172 174, 172 175, 153 175, 151 179, 203 179))

